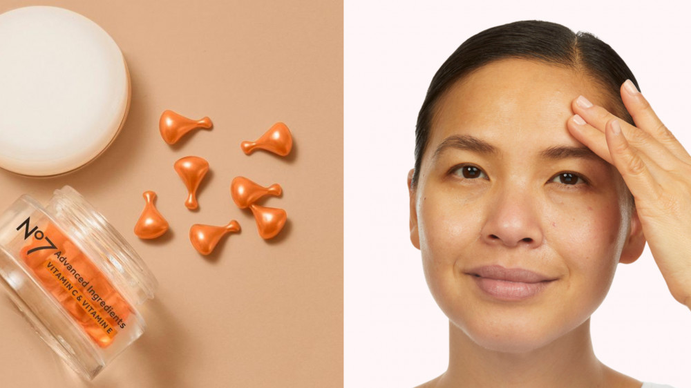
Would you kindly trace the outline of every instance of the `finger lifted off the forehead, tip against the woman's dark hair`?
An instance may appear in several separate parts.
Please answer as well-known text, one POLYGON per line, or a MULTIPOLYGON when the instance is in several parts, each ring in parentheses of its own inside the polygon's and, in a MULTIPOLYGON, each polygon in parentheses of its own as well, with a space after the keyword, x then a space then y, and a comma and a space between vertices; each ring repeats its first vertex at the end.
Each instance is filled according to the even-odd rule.
POLYGON ((630 79, 627 79, 621 85, 621 90, 619 91, 621 93, 621 100, 624 102, 626 110, 628 110, 629 114, 634 119, 636 127, 650 133, 650 135, 655 137, 661 144, 669 148, 672 154, 683 162, 691 164, 691 155, 689 155, 688 151, 685 150, 679 140, 674 137, 672 131, 670 131, 659 117, 657 117, 650 103, 643 97, 641 92, 638 91, 634 83, 630 79))

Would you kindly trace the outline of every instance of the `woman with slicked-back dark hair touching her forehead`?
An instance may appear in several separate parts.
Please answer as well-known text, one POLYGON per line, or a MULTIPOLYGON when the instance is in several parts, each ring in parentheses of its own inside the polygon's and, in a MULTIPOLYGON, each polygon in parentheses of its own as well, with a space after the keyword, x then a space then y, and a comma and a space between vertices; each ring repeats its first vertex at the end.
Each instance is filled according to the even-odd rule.
POLYGON ((646 241, 691 309, 691 156, 612 48, 545 21, 480 32, 437 71, 415 135, 410 239, 451 342, 420 387, 669 387, 591 344, 646 241))

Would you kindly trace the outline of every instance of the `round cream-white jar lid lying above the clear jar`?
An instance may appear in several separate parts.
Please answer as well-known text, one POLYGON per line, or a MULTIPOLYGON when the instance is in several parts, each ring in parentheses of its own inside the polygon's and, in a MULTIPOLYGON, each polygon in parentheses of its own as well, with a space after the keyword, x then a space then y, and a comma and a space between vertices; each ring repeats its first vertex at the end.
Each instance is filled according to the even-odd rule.
POLYGON ((63 8, 0 14, 0 167, 32 176, 84 166, 115 139, 129 108, 120 48, 63 8))

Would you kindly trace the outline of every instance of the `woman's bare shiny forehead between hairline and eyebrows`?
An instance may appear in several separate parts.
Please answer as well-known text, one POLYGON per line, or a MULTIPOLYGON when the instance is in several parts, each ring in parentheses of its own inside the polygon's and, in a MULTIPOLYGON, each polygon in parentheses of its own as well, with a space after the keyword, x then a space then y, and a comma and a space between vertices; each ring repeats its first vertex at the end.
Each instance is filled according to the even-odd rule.
POLYGON ((427 150, 451 135, 471 134, 504 153, 547 146, 583 146, 571 136, 571 101, 586 96, 604 105, 603 94, 582 72, 524 59, 482 66, 452 85, 439 99, 427 150))

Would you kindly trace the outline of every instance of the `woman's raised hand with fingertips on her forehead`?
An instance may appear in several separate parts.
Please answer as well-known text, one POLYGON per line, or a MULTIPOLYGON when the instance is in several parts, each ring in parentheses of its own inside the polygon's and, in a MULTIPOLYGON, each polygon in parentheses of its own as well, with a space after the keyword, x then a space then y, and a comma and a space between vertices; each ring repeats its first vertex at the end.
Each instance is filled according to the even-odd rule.
POLYGON ((621 173, 672 296, 691 309, 691 155, 630 80, 619 92, 636 126, 580 96, 567 127, 621 173))

